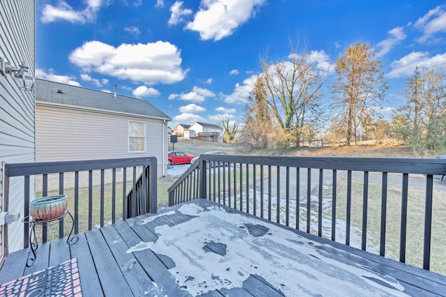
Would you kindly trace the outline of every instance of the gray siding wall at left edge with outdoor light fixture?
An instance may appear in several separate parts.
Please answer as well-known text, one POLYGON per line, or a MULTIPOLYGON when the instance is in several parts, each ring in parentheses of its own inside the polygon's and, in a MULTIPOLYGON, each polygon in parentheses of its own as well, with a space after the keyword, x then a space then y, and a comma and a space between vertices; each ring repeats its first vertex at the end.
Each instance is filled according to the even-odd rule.
MULTIPOLYGON (((32 74, 35 73, 34 9, 34 1, 0 1, 0 56, 14 66, 18 66, 24 61, 32 74)), ((0 74, 0 164, 3 162, 34 162, 33 94, 32 91, 20 90, 11 75, 0 74)), ((0 175, 3 176, 3 170, 0 175)), ((0 200, 3 201, 3 178, 0 180, 0 200)), ((31 181, 31 185, 33 185, 33 181, 31 181)), ((33 192, 32 189, 31 195, 33 192)), ((23 178, 11 178, 8 211, 20 211, 22 218, 23 197, 23 178)), ((1 206, 1 209, 5 210, 4 205, 1 206)), ((22 218, 7 227, 8 252, 23 248, 24 225, 22 218)), ((1 241, 4 242, 6 232, 4 230, 1 232, 1 241)), ((3 250, 1 256, 3 256, 3 250)))

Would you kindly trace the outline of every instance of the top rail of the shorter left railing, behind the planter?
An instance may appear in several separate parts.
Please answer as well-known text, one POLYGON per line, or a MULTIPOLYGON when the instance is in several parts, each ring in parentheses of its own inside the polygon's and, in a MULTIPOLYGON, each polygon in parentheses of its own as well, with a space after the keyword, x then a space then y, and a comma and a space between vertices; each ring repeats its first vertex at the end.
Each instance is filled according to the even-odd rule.
POLYGON ((63 162, 7 163, 5 165, 5 173, 6 176, 12 177, 35 174, 52 174, 59 172, 79 172, 96 169, 149 166, 153 164, 156 164, 155 157, 63 162))

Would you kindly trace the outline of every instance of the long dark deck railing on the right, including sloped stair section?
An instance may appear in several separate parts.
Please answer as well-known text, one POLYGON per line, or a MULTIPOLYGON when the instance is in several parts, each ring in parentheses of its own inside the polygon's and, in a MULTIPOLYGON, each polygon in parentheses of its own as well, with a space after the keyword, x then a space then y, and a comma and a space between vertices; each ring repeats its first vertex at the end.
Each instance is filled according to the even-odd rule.
MULTIPOLYGON (((385 257, 399 245, 397 255, 390 257, 401 262, 406 262, 408 231, 412 245, 412 226, 420 224, 418 266, 429 270, 433 201, 444 204, 446 196, 441 189, 446 185, 434 183, 433 177, 445 174, 446 160, 440 159, 204 154, 169 188, 169 206, 210 199, 362 250, 376 246, 376 253, 385 257), (422 185, 413 185, 412 178, 422 185), (421 198, 413 197, 420 192, 421 198), (415 207, 422 213, 416 224, 410 213, 415 207), (394 231, 392 224, 397 224, 394 231)), ((445 215, 436 216, 440 254, 446 243, 445 215)))

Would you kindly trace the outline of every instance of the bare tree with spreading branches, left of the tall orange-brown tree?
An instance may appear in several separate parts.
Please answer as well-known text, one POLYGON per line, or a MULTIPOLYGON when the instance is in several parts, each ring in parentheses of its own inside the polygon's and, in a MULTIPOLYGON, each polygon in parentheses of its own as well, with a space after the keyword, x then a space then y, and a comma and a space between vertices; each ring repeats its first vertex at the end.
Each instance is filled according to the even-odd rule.
POLYGON ((311 124, 318 113, 321 86, 329 70, 322 71, 307 54, 291 45, 289 61, 272 63, 261 61, 261 77, 266 86, 266 102, 285 139, 285 146, 291 142, 299 145, 304 125, 311 124), (308 117, 312 114, 313 117, 308 117))

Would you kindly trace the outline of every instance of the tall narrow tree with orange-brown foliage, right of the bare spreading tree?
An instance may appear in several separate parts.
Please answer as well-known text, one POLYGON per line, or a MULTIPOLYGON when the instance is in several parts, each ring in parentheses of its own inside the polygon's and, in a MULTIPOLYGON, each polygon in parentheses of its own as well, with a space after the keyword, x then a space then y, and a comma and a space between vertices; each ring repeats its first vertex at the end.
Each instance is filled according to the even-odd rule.
POLYGON ((356 43, 346 48, 336 63, 337 81, 332 86, 334 103, 339 109, 336 120, 344 127, 346 145, 357 144, 357 128, 364 124, 376 102, 383 99, 388 86, 383 66, 370 45, 356 43))

